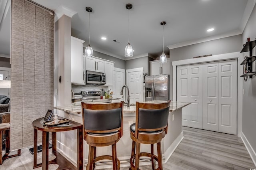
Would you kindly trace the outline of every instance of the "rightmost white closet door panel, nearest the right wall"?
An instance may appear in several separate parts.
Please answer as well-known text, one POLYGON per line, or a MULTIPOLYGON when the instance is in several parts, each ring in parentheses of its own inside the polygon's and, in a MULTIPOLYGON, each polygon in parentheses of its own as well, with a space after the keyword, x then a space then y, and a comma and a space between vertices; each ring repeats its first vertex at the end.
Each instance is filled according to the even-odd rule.
POLYGON ((237 61, 220 61, 219 77, 219 132, 237 134, 237 61))

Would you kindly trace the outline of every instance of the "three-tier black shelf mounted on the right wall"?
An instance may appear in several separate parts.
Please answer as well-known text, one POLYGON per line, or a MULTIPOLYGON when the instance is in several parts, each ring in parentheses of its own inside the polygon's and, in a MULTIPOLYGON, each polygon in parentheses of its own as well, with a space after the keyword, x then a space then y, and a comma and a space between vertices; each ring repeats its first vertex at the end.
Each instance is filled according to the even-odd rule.
POLYGON ((256 56, 252 56, 252 49, 255 47, 255 45, 256 45, 256 40, 246 42, 246 44, 241 50, 241 53, 250 51, 250 56, 245 57, 241 63, 241 65, 244 65, 244 67, 247 67, 248 69, 246 71, 244 70, 245 73, 240 76, 240 77, 244 77, 245 81, 247 80, 246 77, 249 76, 250 78, 252 78, 252 76, 256 74, 256 71, 252 71, 252 62, 256 60, 256 56))

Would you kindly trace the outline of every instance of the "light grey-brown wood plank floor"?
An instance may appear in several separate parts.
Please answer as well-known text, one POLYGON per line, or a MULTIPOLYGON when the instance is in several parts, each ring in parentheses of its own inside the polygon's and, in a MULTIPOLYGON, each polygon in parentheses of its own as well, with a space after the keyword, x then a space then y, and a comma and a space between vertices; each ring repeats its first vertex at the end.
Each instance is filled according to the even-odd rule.
MULTIPOLYGON (((183 127, 183 132, 184 139, 164 164, 164 170, 250 170, 255 168, 240 137, 188 127, 183 127)), ((52 155, 50 157, 53 158, 52 155)), ((22 149, 21 156, 7 159, 0 166, 0 170, 32 170, 32 167, 33 155, 28 149, 22 149)), ((57 165, 54 164, 49 166, 52 170, 56 168, 57 165)), ((120 168, 120 170, 128 169, 120 168)), ((151 170, 152 168, 140 166, 140 169, 151 170)))

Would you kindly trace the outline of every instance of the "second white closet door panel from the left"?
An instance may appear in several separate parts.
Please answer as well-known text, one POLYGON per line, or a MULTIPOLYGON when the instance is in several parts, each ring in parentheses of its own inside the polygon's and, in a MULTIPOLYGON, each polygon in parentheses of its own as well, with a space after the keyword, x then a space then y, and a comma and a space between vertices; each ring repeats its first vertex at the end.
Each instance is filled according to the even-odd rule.
POLYGON ((189 65, 189 127, 203 128, 203 64, 189 65))

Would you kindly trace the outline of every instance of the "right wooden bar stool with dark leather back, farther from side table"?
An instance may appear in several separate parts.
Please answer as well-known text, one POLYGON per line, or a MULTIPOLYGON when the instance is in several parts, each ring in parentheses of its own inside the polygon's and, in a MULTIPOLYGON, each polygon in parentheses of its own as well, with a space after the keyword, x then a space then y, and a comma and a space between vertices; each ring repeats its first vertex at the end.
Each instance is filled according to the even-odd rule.
POLYGON ((136 123, 130 126, 130 137, 132 138, 130 170, 138 170, 140 156, 151 158, 153 170, 162 170, 161 140, 167 134, 169 110, 170 101, 136 102, 136 123), (151 153, 140 152, 141 143, 151 144, 151 153), (154 155, 155 143, 157 145, 157 156, 154 155), (155 168, 154 160, 158 162, 158 168, 155 168))

